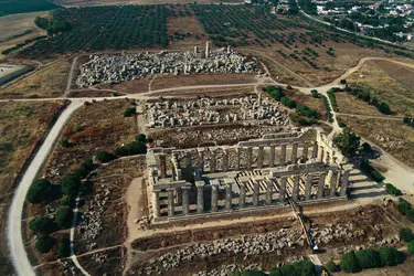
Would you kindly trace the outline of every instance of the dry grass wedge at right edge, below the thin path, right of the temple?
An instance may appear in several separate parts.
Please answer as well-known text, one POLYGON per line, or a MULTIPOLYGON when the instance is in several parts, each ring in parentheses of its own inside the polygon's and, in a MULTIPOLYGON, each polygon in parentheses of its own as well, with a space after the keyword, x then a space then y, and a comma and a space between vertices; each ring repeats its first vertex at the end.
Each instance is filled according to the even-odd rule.
POLYGON ((385 149, 400 161, 414 166, 414 128, 397 120, 340 116, 355 134, 385 149))

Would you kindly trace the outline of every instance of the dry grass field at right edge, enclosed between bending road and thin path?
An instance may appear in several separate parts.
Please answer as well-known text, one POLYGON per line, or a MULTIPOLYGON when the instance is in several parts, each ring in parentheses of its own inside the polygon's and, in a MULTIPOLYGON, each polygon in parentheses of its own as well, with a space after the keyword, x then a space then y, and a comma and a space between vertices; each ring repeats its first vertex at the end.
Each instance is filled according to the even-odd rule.
POLYGON ((414 115, 413 93, 414 71, 386 61, 370 61, 350 75, 347 81, 352 85, 365 87, 381 100, 390 104, 400 115, 414 115), (360 75, 364 77, 361 78, 360 75))

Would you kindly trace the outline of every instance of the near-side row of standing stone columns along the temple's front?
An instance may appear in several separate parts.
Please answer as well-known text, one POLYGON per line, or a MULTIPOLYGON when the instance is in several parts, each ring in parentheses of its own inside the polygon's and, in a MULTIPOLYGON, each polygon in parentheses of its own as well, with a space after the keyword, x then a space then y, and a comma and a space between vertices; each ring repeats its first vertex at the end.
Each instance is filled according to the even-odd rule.
MULTIPOLYGON (((343 197, 347 194, 347 188, 349 182, 349 174, 350 171, 346 170, 343 172, 340 171, 329 171, 322 172, 322 173, 309 173, 306 174, 306 177, 302 179, 300 174, 289 176, 289 177, 282 177, 278 179, 278 188, 279 188, 279 199, 278 201, 280 203, 286 202, 286 187, 288 183, 288 180, 290 183, 293 183, 293 190, 291 190, 291 201, 298 202, 299 201, 299 190, 300 190, 300 183, 305 182, 305 200, 310 200, 311 198, 311 188, 314 183, 314 179, 319 177, 319 182, 317 187, 317 194, 316 198, 322 199, 323 198, 323 190, 326 185, 326 181, 328 179, 329 181, 329 198, 336 197, 337 190, 339 188, 339 195, 343 197), (341 177, 341 178, 340 178, 341 177), (339 182, 339 180, 341 181, 339 182)), ((252 202, 253 206, 259 205, 259 183, 264 181, 264 177, 257 176, 253 178, 253 197, 252 202)), ((267 205, 273 204, 273 193, 274 193, 274 187, 276 183, 276 178, 270 178, 267 180, 266 185, 266 199, 265 203, 267 205)), ((233 209, 232 200, 233 200, 233 192, 232 188, 236 184, 234 179, 227 178, 224 179, 224 185, 225 185, 225 210, 230 211, 233 209)), ((243 209, 246 206, 246 187, 248 184, 252 184, 252 179, 250 177, 241 177, 238 179, 238 187, 240 187, 240 195, 238 195, 238 208, 243 209)), ((211 211, 217 212, 219 211, 219 185, 220 182, 217 180, 211 181, 211 211)), ((204 212, 204 181, 197 181, 197 213, 203 213, 204 212)), ((174 215, 174 192, 177 193, 177 189, 181 189, 182 199, 180 201, 182 202, 182 213, 184 215, 188 215, 190 212, 190 190, 191 184, 183 185, 180 188, 168 188, 168 215, 173 216, 174 215)), ((160 190, 153 190, 153 215, 156 217, 160 216, 160 203, 159 203, 159 194, 160 190)), ((179 194, 179 193, 177 193, 179 194)))

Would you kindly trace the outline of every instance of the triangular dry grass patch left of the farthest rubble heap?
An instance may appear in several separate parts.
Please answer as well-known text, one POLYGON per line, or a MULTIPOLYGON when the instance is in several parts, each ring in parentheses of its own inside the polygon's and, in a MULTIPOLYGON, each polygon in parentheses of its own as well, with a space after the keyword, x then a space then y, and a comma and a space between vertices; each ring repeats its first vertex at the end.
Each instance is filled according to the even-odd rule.
POLYGON ((34 72, 0 91, 0 98, 60 97, 66 88, 71 63, 62 61, 34 72))

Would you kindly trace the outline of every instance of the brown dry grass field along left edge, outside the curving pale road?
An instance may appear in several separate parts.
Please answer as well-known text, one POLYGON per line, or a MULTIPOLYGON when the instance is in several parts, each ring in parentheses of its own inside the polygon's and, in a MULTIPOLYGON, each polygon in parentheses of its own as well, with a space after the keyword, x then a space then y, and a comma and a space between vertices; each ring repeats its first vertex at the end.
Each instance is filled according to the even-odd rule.
MULTIPOLYGON (((0 216, 6 225, 15 180, 31 157, 55 116, 64 107, 63 102, 0 103, 0 216)), ((4 231, 0 232, 0 274, 9 275, 4 231)))

